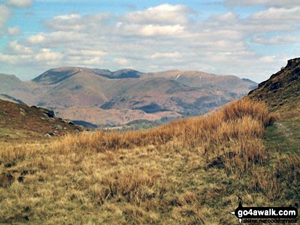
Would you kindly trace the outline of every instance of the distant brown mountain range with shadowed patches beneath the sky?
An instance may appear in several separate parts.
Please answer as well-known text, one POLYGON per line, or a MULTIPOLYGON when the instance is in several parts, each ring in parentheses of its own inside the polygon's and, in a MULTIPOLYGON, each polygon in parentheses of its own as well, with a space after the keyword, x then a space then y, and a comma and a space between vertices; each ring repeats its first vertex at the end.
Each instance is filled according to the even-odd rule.
POLYGON ((0 98, 98 126, 201 115, 255 88, 248 79, 182 70, 60 67, 27 82, 0 74, 0 98))

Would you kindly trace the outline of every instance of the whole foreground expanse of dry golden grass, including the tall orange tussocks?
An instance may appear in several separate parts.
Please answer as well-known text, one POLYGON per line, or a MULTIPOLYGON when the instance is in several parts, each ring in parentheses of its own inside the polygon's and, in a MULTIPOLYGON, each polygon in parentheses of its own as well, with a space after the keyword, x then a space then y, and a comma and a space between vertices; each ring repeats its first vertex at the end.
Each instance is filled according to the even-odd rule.
POLYGON ((278 205, 287 201, 276 173, 299 184, 299 158, 265 166, 271 156, 263 137, 274 119, 263 104, 242 99, 148 131, 3 143, 0 222, 236 223, 229 212, 237 195, 250 205, 278 205))

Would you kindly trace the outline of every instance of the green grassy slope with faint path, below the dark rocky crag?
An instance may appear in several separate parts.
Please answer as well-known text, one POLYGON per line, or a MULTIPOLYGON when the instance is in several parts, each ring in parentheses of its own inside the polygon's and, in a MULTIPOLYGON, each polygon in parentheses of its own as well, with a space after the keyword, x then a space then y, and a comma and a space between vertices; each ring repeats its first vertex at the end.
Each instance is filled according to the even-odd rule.
POLYGON ((291 205, 300 201, 299 122, 300 117, 280 119, 268 128, 264 140, 266 151, 271 156, 269 166, 282 187, 278 197, 285 196, 291 205))

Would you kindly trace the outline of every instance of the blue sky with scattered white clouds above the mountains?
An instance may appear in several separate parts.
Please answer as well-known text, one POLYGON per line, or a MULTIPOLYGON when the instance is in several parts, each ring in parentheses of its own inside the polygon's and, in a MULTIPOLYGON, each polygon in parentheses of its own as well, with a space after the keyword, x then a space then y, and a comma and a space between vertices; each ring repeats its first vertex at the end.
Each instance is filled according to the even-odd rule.
POLYGON ((0 73, 60 66, 231 74, 300 57, 300 0, 0 0, 0 73))

